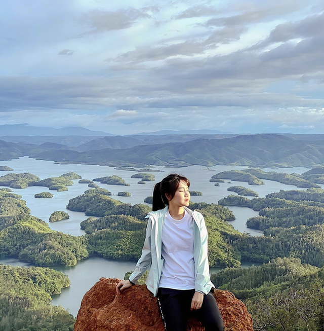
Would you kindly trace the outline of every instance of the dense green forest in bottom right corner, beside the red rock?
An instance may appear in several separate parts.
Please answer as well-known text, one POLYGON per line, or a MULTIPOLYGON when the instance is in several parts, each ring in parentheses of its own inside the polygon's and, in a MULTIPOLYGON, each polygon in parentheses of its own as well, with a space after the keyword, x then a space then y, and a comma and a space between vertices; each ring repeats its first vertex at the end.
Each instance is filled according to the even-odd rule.
POLYGON ((323 268, 277 258, 259 267, 227 268, 211 278, 245 302, 255 330, 324 329, 323 268))

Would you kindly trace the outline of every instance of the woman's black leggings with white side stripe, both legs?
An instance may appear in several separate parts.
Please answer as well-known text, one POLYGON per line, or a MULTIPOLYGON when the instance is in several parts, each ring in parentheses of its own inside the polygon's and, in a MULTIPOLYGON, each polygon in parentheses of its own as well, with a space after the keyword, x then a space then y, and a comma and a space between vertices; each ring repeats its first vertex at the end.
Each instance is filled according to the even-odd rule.
POLYGON ((203 305, 198 310, 190 311, 194 289, 180 290, 159 288, 157 304, 164 321, 166 331, 186 331, 189 316, 197 318, 206 331, 225 329, 216 300, 211 292, 204 295, 203 305))

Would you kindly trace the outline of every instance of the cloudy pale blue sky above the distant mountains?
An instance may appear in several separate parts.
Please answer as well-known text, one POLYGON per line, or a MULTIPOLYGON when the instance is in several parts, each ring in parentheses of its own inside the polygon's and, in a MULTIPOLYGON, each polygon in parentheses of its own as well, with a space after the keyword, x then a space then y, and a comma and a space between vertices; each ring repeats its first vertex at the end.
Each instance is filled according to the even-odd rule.
POLYGON ((324 2, 11 0, 0 124, 324 133, 324 2))

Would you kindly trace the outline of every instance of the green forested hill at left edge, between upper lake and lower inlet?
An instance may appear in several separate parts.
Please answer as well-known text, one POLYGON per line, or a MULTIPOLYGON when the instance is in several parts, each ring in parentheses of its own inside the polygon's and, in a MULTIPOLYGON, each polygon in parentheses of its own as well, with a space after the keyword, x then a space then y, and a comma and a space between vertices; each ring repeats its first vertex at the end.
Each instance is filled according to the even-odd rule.
POLYGON ((51 230, 30 215, 25 201, 0 197, 0 257, 36 266, 73 266, 89 255, 83 237, 51 230))

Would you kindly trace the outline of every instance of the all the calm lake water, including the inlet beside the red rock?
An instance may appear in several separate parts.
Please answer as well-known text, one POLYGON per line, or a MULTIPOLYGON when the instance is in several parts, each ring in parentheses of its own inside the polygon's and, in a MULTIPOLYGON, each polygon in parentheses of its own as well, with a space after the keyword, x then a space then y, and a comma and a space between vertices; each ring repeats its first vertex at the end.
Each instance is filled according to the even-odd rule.
MULTIPOLYGON (((241 170, 246 167, 225 167, 225 166, 214 166, 214 167, 203 167, 203 166, 191 166, 186 168, 164 168, 155 167, 158 170, 164 172, 153 172, 155 175, 155 181, 147 182, 146 185, 137 184, 138 178, 131 178, 136 173, 133 171, 114 170, 113 167, 101 167, 99 165, 81 165, 81 164, 69 164, 61 165, 55 164, 53 161, 34 160, 28 157, 20 158, 12 161, 0 161, 0 165, 10 166, 14 169, 13 172, 30 172, 37 175, 41 179, 48 177, 60 176, 66 172, 76 172, 81 175, 84 179, 93 179, 96 177, 118 175, 130 183, 131 186, 115 186, 106 185, 96 182, 101 188, 107 189, 116 195, 120 191, 128 191, 131 193, 131 197, 118 197, 112 196, 123 202, 129 202, 131 204, 144 203, 144 198, 152 195, 154 183, 164 178, 171 172, 182 173, 190 179, 190 190, 203 192, 203 196, 193 196, 191 201, 193 202, 207 202, 217 203, 221 198, 228 196, 229 194, 236 194, 234 192, 228 192, 227 188, 230 186, 244 186, 258 192, 259 197, 265 197, 267 194, 272 192, 278 192, 279 190, 292 190, 296 189, 295 186, 285 185, 271 180, 264 180, 265 185, 262 186, 250 186, 247 182, 232 181, 227 183, 220 183, 220 187, 215 187, 213 182, 209 179, 212 175, 220 171, 228 170, 241 170)), ((293 169, 263 169, 265 171, 277 171, 286 173, 303 173, 309 169, 306 168, 293 168, 293 169)), ((6 171, 0 172, 0 175, 5 175, 6 171)), ((79 184, 78 179, 73 180, 74 184, 68 187, 68 191, 56 192, 50 191, 54 197, 48 199, 36 199, 34 195, 36 193, 49 191, 45 187, 28 187, 23 190, 13 189, 14 193, 21 194, 22 198, 26 201, 27 206, 31 210, 31 214, 37 216, 49 223, 49 217, 52 212, 56 210, 67 211, 70 215, 68 220, 61 220, 60 222, 49 223, 51 229, 61 231, 63 233, 79 236, 83 235, 84 231, 80 230, 80 222, 87 218, 83 212, 75 212, 66 210, 66 205, 69 199, 74 198, 78 195, 82 195, 88 190, 87 184, 79 184)), ((246 221, 249 217, 253 217, 258 212, 253 211, 246 207, 229 207, 233 211, 236 219, 229 222, 235 229, 240 232, 248 232, 252 236, 262 235, 261 231, 248 229, 246 227, 246 221)), ((0 260, 0 263, 17 266, 31 266, 20 262, 16 259, 5 259, 0 260)), ((252 264, 244 263, 242 267, 249 267, 252 264)), ((256 265, 256 264, 254 264, 256 265)), ((78 262, 73 267, 55 267, 53 269, 59 270, 67 274, 71 280, 71 286, 63 289, 60 295, 53 296, 53 305, 62 305, 64 308, 69 309, 70 313, 76 316, 79 309, 80 302, 84 294, 96 283, 100 277, 106 278, 123 278, 127 271, 133 270, 135 262, 129 261, 111 261, 105 260, 99 257, 90 258, 84 261, 78 262)), ((217 272, 222 268, 212 268, 211 272, 217 272)))

